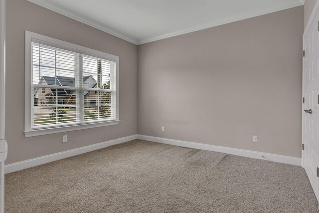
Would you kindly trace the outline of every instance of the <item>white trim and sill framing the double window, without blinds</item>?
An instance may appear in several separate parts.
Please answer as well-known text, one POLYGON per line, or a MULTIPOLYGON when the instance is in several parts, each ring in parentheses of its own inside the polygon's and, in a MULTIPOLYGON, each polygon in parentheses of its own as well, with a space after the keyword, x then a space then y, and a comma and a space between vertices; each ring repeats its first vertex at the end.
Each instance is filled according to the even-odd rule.
POLYGON ((119 124, 119 56, 112 55, 109 53, 101 52, 98 50, 90 49, 87 47, 79 46, 66 41, 61 41, 48 36, 40 35, 34 32, 25 31, 25 94, 24 94, 24 136, 31 137, 37 135, 46 135, 59 132, 67 132, 109 125, 119 124), (36 42, 39 44, 52 46, 59 49, 64 49, 72 52, 77 52, 84 55, 93 56, 96 58, 101 58, 109 61, 116 62, 116 116, 115 120, 112 121, 97 121, 94 123, 81 123, 69 126, 59 126, 43 129, 32 129, 31 127, 31 110, 32 110, 32 61, 31 52, 32 45, 31 42, 36 42))

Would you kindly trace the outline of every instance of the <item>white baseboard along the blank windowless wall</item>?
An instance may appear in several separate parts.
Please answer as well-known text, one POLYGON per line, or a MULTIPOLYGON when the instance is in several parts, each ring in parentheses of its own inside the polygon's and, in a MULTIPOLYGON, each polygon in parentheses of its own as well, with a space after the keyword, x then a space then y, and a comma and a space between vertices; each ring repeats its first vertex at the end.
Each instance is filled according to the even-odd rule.
POLYGON ((290 157, 285 155, 276 155, 276 154, 270 154, 270 153, 264 153, 264 152, 256 152, 251 150, 243 150, 243 149, 214 146, 214 145, 208 145, 208 144, 200 144, 200 143, 194 143, 194 142, 188 142, 188 141, 179 141, 179 140, 159 138, 159 137, 153 137, 153 136, 147 136, 147 135, 138 135, 138 139, 158 142, 162 144, 170 144, 170 145, 175 145, 180 147, 221 152, 221 153, 239 155, 239 156, 248 157, 248 158, 257 158, 262 160, 274 161, 278 163, 301 166, 301 158, 290 157))

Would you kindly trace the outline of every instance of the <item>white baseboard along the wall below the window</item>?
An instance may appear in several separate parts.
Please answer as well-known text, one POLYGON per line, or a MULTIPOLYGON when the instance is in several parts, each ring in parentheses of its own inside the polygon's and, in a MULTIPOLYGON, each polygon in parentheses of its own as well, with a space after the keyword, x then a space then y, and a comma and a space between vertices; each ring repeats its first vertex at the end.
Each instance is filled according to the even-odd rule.
POLYGON ((4 173, 7 174, 7 173, 11 173, 11 172, 16 172, 19 170, 27 169, 30 167, 35 167, 35 166, 38 166, 41 164, 46 164, 46 163, 49 163, 52 161, 61 160, 63 158, 68 158, 68 157, 72 157, 75 155, 80 155, 80 154, 83 154, 86 152, 91 152, 94 150, 102 149, 102 148, 109 147, 109 146, 116 145, 116 144, 121 144, 121 143, 132 141, 135 139, 137 139, 137 135, 131 135, 131 136, 123 137, 123 138, 118 138, 118 139, 114 139, 114 140, 110 140, 110 141, 101 142, 98 144, 92 144, 92 145, 85 146, 85 147, 79 147, 76 149, 58 152, 58 153, 54 153, 51 155, 45 155, 45 156, 41 156, 38 158, 32 158, 29 160, 20 161, 20 162, 16 162, 13 164, 8 164, 8 165, 4 166, 4 173))

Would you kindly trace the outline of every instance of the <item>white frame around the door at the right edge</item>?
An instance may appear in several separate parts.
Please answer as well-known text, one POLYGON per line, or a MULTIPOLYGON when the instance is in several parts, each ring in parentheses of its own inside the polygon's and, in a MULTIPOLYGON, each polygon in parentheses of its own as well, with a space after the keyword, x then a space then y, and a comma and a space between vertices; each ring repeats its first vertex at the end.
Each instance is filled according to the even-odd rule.
MULTIPOLYGON (((319 10, 319 0, 316 1, 314 9, 313 9, 313 11, 312 11, 312 13, 310 15, 310 18, 309 18, 308 23, 307 23, 307 25, 305 27, 305 30, 304 30, 304 34, 303 34, 303 50, 305 50, 305 48, 306 48, 305 47, 305 38, 306 38, 306 36, 307 36, 307 34, 308 34, 309 30, 310 30, 311 24, 313 23, 317 12, 319 12, 318 10, 319 10)), ((305 97, 305 88, 306 88, 306 85, 305 85, 306 73, 305 73, 305 71, 306 71, 305 70, 305 57, 303 57, 303 98, 305 97)), ((305 120, 304 110, 305 110, 305 105, 306 104, 304 104, 304 103, 302 104, 302 144, 301 145, 304 144, 304 125, 305 125, 304 124, 304 120, 305 120)), ((301 165, 302 165, 303 168, 305 168, 305 166, 304 166, 304 161, 305 161, 304 152, 305 152, 305 150, 302 150, 302 163, 301 163, 301 165)))

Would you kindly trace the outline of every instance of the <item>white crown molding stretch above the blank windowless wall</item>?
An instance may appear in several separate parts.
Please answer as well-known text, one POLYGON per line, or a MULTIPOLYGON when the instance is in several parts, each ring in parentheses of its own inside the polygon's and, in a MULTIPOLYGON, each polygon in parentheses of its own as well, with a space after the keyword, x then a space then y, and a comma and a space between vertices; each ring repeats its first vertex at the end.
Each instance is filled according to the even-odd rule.
MULTIPOLYGON (((303 1, 303 0, 301 0, 301 1, 303 1)), ((157 41, 157 40, 161 40, 164 38, 169 38, 169 37, 173 37, 173 36, 177 36, 177 35, 186 34, 189 32, 207 29, 210 27, 219 26, 222 24, 231 23, 231 22, 235 22, 235 21, 239 21, 239 20, 244 20, 247 18, 252 18, 252 17, 259 16, 259 15, 264 15, 264 14, 268 14, 268 13, 272 13, 272 12, 276 12, 276 11, 280 11, 280 10, 284 10, 284 9, 289 9, 289 8, 293 8, 293 7, 301 6, 301 5, 303 5, 303 4, 300 1, 296 1, 296 0, 290 1, 288 3, 283 3, 283 4, 276 5, 276 6, 272 6, 272 7, 268 7, 268 8, 264 8, 264 9, 260 9, 260 10, 255 10, 255 11, 251 11, 251 12, 246 12, 246 13, 242 13, 242 14, 238 14, 238 15, 232 15, 232 16, 228 16, 228 17, 221 18, 218 20, 210 21, 210 22, 207 22, 204 24, 198 24, 198 25, 184 28, 184 29, 181 29, 178 31, 163 34, 160 36, 155 36, 155 37, 147 38, 144 40, 139 40, 138 44, 149 43, 152 41, 157 41)))

